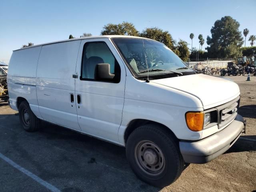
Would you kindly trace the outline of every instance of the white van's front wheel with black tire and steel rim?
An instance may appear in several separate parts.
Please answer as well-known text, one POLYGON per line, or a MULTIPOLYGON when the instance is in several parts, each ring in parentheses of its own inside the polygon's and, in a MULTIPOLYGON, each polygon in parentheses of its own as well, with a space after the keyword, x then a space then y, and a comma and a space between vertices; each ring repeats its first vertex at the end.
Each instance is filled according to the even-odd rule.
MULTIPOLYGON (((126 157, 136 176, 142 181, 156 187, 162 188, 172 184, 184 170, 184 160, 180 153, 178 142, 169 132, 161 126, 154 124, 140 126, 130 134, 126 142, 126 157), (148 146, 148 142, 152 142, 152 146, 150 148, 145 147, 145 149, 138 148, 142 142, 146 142, 146 146, 148 146), (147 150, 152 150, 153 155, 158 157, 148 157, 149 151, 147 150), (144 155, 136 155, 140 153, 144 153, 144 155), (162 155, 158 155, 158 153, 162 153, 162 155), (149 164, 146 158, 148 158, 148 161, 154 161, 154 164, 149 164), (161 163, 164 166, 162 166, 160 171, 150 170, 161 163), (143 164, 147 164, 146 166, 150 168, 143 164)), ((156 167, 154 168, 156 169, 156 167)))

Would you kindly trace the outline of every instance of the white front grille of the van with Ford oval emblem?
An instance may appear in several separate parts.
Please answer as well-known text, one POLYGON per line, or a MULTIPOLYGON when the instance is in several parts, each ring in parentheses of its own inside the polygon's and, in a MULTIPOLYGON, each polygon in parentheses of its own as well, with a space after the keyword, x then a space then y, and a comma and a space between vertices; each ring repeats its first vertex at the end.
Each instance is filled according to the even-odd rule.
POLYGON ((218 128, 223 128, 236 118, 239 107, 240 96, 236 99, 217 107, 219 119, 218 128))

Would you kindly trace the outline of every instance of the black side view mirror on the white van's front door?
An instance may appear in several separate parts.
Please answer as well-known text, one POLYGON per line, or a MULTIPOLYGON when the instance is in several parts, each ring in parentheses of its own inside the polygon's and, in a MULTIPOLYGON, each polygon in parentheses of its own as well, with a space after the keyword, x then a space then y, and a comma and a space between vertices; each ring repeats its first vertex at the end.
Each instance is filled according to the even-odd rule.
POLYGON ((98 81, 111 81, 114 78, 114 74, 110 73, 110 64, 99 63, 95 67, 94 78, 98 81))

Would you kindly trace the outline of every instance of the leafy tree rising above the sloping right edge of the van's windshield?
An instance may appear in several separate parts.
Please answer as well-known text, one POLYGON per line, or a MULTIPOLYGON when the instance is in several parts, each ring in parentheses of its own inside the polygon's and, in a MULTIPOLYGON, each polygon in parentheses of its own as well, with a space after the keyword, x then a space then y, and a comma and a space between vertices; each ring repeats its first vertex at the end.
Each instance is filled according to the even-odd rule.
POLYGON ((168 46, 168 48, 170 48, 171 50, 174 50, 175 41, 172 39, 172 36, 168 31, 164 31, 157 27, 146 28, 142 31, 140 36, 159 41, 168 46))

